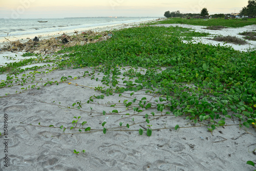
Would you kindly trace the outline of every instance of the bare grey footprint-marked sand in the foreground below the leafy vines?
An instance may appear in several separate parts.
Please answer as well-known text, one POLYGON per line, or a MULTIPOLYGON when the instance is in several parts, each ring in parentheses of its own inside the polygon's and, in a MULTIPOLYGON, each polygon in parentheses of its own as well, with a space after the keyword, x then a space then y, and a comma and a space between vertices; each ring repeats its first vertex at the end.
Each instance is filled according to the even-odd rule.
MULTIPOLYGON (((3 54, 0 56, 3 57, 3 54)), ((129 70, 123 69, 121 72, 129 70)), ((34 82, 38 83, 39 90, 22 92, 21 88, 35 83, 25 84, 24 87, 14 84, 13 87, 0 89, 2 134, 4 114, 8 115, 8 140, 4 136, 0 137, 0 170, 253 170, 252 166, 246 164, 248 160, 256 162, 255 153, 251 153, 256 148, 256 133, 251 127, 239 129, 238 120, 227 119, 226 124, 229 126, 218 127, 211 135, 204 125, 194 126, 185 117, 174 117, 172 113, 165 115, 168 109, 163 110, 164 116, 156 109, 137 114, 133 107, 138 106, 142 97, 146 97, 146 103, 152 103, 153 107, 157 104, 154 100, 159 99, 159 95, 146 94, 144 89, 132 96, 132 92, 120 96, 118 93, 108 97, 104 95, 103 99, 93 98, 94 101, 88 104, 91 96, 102 95, 94 88, 105 85, 101 82, 104 76, 102 73, 98 75, 95 71, 95 79, 88 74, 82 77, 86 71, 91 73, 92 68, 37 73, 34 82), (43 86, 47 81, 60 81, 62 76, 77 79, 59 82, 58 86, 43 86), (6 96, 7 93, 9 95, 6 96), (130 102, 134 98, 137 101, 127 109, 123 101, 130 102), (75 105, 72 109, 72 104, 79 101, 84 103, 82 108, 78 110, 75 105), (111 107, 113 104, 116 106, 111 107), (112 113, 113 110, 118 110, 118 114, 112 113), (102 111, 106 112, 105 116, 102 111), (146 131, 139 135, 138 130, 147 127, 143 116, 151 112, 155 112, 155 117, 150 115, 149 118, 154 129, 152 136, 148 137, 146 131), (130 116, 125 115, 127 113, 130 116), (77 129, 70 130, 74 116, 81 116, 77 127, 82 127, 82 121, 87 121, 83 128, 90 126, 91 132, 84 133, 84 129, 81 129, 82 133, 77 129), (102 132, 104 120, 106 134, 102 132), (124 122, 122 130, 119 122, 124 122), (127 123, 130 124, 129 129, 125 127, 127 123), (175 131, 177 124, 180 128, 175 131), (66 135, 61 135, 63 129, 58 128, 61 125, 67 127, 66 135), (8 153, 4 152, 6 141, 8 153), (75 155, 74 149, 79 152, 84 149, 86 153, 75 155), (6 154, 8 167, 4 166, 6 154)), ((144 73, 143 70, 140 72, 144 73)), ((29 72, 25 74, 30 75, 29 72)), ((127 80, 121 78, 117 85, 119 87, 123 87, 122 82, 127 80)), ((4 74, 0 75, 0 80, 3 79, 6 79, 4 74)))

